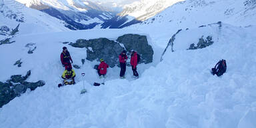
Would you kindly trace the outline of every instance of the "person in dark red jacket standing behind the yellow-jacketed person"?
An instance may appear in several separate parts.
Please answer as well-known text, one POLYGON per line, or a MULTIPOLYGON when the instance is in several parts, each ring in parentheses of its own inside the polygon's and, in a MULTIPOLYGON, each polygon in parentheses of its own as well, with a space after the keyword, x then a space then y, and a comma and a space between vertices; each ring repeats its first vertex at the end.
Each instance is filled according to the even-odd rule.
POLYGON ((73 63, 73 60, 69 54, 69 51, 67 51, 67 47, 63 47, 63 51, 61 53, 61 63, 63 65, 63 67, 65 67, 65 69, 67 70, 68 67, 70 67, 72 69, 72 65, 71 63, 73 63))

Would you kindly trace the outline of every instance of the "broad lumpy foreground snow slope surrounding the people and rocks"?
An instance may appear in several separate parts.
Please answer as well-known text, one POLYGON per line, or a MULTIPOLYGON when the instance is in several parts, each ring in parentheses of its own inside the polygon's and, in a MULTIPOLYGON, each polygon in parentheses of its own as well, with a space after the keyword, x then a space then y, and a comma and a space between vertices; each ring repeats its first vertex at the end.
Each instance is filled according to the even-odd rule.
MULTIPOLYGON (((0 46, 1 58, 5 60, 2 62, 5 66, 0 67, 5 75, 0 76, 0 81, 31 69, 29 81, 42 79, 46 85, 3 106, 0 127, 253 128, 256 125, 256 37, 252 33, 256 28, 227 24, 222 25, 221 31, 212 28, 209 33, 207 29, 211 30, 211 27, 189 29, 177 35, 177 42, 189 44, 187 41, 194 37, 192 33, 219 35, 213 38, 213 45, 187 51, 187 45, 176 42, 174 47, 179 45, 179 50, 171 52, 167 49, 160 63, 160 55, 155 55, 157 65, 139 65, 141 77, 137 80, 131 79, 129 69, 127 79, 119 79, 119 68, 116 67, 108 69, 105 85, 93 87, 91 84, 100 80, 93 69, 95 63, 86 61, 81 69, 75 69, 77 84, 60 89, 57 83, 61 81, 63 71, 59 61, 61 48, 68 47, 74 63, 81 63, 86 57, 86 49, 61 42, 97 37, 116 39, 135 30, 101 29, 15 37, 16 43, 0 46), (37 46, 32 55, 25 49, 27 42, 37 46), (15 49, 19 55, 10 49, 15 49), (17 59, 23 60, 20 69, 13 66, 17 59), (219 59, 227 60, 227 73, 222 77, 209 72, 219 59), (83 72, 85 78, 80 75, 83 72), (83 79, 88 92, 80 95, 83 79)), ((151 40, 151 34, 147 36, 155 53, 162 53, 155 47, 162 40, 151 40)))

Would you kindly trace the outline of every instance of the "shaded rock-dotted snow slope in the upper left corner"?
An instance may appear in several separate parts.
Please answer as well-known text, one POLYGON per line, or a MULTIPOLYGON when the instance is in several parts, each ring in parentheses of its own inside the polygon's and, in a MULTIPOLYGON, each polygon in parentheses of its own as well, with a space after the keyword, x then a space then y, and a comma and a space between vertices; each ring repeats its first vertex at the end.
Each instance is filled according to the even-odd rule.
POLYGON ((67 31, 63 21, 51 17, 40 11, 29 9, 13 0, 0 1, 0 24, 15 28, 19 23, 20 33, 42 33, 53 31, 67 31))

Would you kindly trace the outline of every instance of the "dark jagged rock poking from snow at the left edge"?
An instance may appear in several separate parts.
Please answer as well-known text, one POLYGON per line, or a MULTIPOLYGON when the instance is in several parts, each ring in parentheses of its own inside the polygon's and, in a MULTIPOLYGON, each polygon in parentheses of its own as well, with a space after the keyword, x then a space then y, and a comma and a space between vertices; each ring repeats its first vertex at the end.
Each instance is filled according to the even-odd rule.
POLYGON ((7 82, 0 82, 0 107, 9 103, 15 97, 21 96, 27 89, 33 91, 37 87, 45 85, 44 81, 37 81, 35 83, 25 81, 29 75, 31 75, 31 71, 27 71, 25 76, 12 75, 11 79, 7 80, 7 82))

